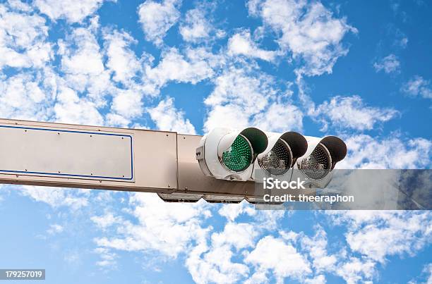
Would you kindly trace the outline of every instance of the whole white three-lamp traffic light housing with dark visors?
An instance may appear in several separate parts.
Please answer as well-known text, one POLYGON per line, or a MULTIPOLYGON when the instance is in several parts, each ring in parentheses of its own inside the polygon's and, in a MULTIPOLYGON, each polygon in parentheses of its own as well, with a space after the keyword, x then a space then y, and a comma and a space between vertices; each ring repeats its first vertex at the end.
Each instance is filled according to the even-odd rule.
POLYGON ((326 187, 332 169, 346 154, 347 145, 336 136, 311 137, 258 128, 215 128, 196 149, 201 171, 212 178, 256 183, 266 176, 300 178, 309 187, 326 187))

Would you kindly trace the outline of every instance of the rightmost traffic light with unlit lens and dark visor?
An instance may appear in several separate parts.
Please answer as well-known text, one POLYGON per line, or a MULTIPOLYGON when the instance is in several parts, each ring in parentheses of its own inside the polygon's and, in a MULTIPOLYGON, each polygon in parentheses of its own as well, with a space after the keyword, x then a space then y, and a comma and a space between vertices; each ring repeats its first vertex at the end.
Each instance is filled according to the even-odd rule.
POLYGON ((297 159, 292 179, 303 178, 309 187, 326 187, 332 178, 332 169, 347 155, 347 145, 336 136, 306 136, 306 140, 308 149, 297 159))

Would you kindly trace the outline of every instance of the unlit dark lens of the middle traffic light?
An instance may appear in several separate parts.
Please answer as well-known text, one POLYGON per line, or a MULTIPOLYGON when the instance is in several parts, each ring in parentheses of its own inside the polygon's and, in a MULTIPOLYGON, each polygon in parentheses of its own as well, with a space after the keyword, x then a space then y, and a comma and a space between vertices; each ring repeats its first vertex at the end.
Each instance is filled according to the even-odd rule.
POLYGON ((292 165, 291 149, 284 140, 277 140, 275 146, 258 163, 270 175, 283 175, 292 165))

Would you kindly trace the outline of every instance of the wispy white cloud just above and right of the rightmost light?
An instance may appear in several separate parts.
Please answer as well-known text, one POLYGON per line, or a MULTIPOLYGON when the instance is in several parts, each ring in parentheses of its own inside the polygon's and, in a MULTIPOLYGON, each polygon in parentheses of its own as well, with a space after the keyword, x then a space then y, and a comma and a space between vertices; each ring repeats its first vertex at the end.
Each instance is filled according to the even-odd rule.
POLYGON ((330 102, 324 101, 314 111, 320 121, 324 123, 323 131, 328 129, 328 120, 338 128, 352 128, 356 130, 371 130, 377 123, 390 121, 398 115, 395 109, 380 109, 366 106, 359 96, 333 97, 330 102))

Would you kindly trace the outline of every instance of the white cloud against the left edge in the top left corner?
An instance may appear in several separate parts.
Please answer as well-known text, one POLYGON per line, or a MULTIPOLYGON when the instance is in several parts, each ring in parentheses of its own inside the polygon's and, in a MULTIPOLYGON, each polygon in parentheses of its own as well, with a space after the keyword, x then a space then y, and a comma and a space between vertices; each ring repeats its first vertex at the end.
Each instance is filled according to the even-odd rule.
MULTIPOLYGON (((28 11, 27 4, 21 11, 28 11)), ((0 4, 0 70, 43 67, 53 58, 52 44, 45 42, 48 27, 45 19, 32 13, 17 13, 0 4)))

